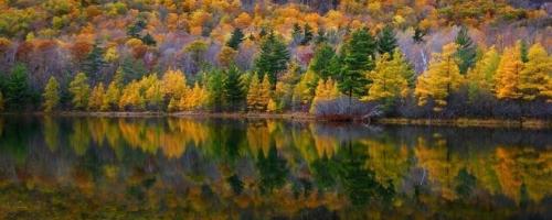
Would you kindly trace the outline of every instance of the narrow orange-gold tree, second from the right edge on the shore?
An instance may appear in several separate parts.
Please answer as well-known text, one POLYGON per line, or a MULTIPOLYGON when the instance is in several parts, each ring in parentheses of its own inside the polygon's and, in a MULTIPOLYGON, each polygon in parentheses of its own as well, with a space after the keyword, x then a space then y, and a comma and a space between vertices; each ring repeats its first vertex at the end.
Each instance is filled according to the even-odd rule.
POLYGON ((523 69, 521 61, 521 43, 518 42, 514 47, 507 47, 502 53, 495 76, 495 92, 499 99, 519 99, 520 73, 523 69))

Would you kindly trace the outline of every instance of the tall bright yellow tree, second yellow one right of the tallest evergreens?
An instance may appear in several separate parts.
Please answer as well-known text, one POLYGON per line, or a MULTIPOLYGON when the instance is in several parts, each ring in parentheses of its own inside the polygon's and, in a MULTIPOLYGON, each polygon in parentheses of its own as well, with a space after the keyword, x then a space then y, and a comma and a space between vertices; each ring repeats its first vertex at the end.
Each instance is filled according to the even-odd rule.
POLYGON ((463 76, 455 62, 456 47, 454 43, 443 46, 443 53, 434 54, 429 68, 418 77, 414 90, 418 106, 433 100, 434 111, 442 111, 450 94, 460 87, 463 76))

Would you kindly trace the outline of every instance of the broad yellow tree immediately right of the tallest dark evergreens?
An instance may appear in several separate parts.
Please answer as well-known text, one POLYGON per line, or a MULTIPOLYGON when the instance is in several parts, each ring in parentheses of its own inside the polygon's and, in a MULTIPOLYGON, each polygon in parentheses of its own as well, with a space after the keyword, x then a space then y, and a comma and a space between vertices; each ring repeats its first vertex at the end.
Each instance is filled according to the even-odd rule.
POLYGON ((391 105, 392 101, 401 97, 406 97, 408 94, 408 81, 406 75, 410 75, 412 69, 403 59, 401 54, 395 53, 392 59, 389 54, 379 57, 374 70, 367 75, 367 78, 372 81, 368 86, 368 96, 364 100, 383 101, 385 105, 391 105))

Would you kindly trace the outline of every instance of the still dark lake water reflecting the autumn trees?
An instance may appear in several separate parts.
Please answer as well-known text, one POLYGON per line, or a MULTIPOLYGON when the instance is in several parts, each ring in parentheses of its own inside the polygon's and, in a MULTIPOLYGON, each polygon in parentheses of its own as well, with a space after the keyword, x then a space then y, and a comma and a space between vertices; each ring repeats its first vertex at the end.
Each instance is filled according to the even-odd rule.
POLYGON ((0 219, 551 219, 552 131, 0 118, 0 219))

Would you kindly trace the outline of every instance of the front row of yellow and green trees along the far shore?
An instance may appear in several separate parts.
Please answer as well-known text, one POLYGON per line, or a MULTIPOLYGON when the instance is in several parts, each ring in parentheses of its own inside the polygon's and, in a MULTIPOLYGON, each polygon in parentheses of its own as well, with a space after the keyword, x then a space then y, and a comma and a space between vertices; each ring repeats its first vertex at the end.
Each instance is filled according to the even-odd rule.
MULTIPOLYGON (((242 70, 232 58, 223 67, 202 67, 191 77, 174 68, 162 74, 137 73, 136 66, 124 63, 110 80, 102 79, 99 72, 116 52, 103 50, 98 43, 71 81, 62 84, 51 76, 42 95, 31 91, 29 69, 17 64, 1 80, 0 107, 45 112, 318 114, 320 109, 348 100, 343 108, 365 108, 352 102, 375 103, 393 117, 549 117, 552 58, 539 43, 518 41, 501 52, 495 46, 484 48, 463 28, 454 42, 432 55, 427 69, 416 74, 391 26, 375 34, 368 28, 352 30, 340 47, 329 44, 323 33, 315 36, 308 26, 298 26, 293 35, 298 43, 316 46, 305 69, 290 57, 280 35, 262 30, 259 53, 251 70, 242 70)), ((246 38, 235 29, 220 58, 224 61, 225 54, 234 53, 246 38)), ((187 50, 193 56, 203 46, 198 41, 187 50)), ((195 59, 201 63, 200 57, 195 59)))

